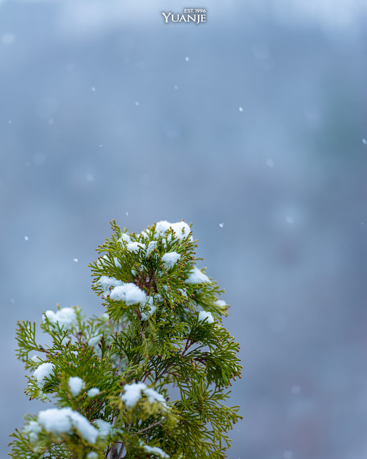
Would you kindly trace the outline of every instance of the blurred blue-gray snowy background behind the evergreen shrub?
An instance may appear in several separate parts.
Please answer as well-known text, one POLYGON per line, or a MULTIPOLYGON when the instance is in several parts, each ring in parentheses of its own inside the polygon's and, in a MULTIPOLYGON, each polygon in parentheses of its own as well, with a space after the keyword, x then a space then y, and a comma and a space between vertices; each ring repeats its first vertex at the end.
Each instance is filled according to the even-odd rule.
POLYGON ((226 289, 229 459, 366 457, 366 22, 358 0, 0 1, 2 457, 44 407, 16 320, 102 312, 112 218, 193 222, 226 289), (164 24, 188 7, 207 22, 164 24))

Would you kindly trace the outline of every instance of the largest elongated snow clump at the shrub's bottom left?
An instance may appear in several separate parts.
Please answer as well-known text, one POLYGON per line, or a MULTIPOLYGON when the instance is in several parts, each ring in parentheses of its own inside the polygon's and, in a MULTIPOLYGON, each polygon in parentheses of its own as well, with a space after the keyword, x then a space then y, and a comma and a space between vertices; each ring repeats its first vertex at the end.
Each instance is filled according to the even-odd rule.
POLYGON ((72 429, 77 429, 81 437, 93 444, 96 442, 99 433, 87 418, 69 407, 40 411, 38 422, 46 431, 55 435, 60 435, 61 433, 72 434, 72 429))

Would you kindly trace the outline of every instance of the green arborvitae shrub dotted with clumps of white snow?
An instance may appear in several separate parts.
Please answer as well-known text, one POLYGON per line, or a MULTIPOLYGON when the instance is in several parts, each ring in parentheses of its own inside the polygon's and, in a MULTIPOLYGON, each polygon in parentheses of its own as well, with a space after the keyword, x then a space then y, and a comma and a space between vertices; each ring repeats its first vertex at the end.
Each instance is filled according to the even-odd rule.
POLYGON ((239 407, 223 403, 241 369, 239 345, 221 325, 223 290, 196 267, 188 224, 112 229, 89 265, 106 312, 44 312, 47 346, 34 323, 18 323, 17 357, 34 370, 25 392, 54 397, 56 408, 25 417, 11 456, 223 458, 239 419, 239 407))

